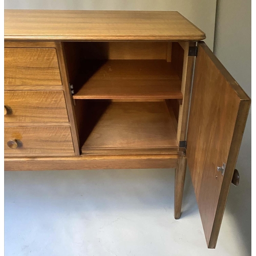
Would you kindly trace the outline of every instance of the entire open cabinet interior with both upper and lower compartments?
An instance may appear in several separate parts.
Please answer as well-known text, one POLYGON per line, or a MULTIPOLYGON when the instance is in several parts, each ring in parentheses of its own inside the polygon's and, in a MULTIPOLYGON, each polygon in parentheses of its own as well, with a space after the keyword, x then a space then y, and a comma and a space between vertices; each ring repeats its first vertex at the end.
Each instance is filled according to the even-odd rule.
POLYGON ((65 42, 82 154, 177 152, 178 42, 65 42))

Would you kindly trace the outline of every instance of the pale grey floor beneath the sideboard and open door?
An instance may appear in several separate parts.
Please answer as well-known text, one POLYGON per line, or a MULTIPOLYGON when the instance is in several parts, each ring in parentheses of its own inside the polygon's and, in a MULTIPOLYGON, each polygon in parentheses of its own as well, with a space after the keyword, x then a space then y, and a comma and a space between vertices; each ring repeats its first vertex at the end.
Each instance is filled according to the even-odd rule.
POLYGON ((251 255, 250 198, 240 185, 214 250, 189 175, 174 219, 173 169, 5 172, 5 255, 251 255))

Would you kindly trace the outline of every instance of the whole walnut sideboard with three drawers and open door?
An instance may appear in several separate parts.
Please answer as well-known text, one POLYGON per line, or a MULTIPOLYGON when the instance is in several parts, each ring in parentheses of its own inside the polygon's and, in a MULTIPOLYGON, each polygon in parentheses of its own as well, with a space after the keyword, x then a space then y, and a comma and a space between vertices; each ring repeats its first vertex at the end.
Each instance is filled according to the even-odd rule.
POLYGON ((178 12, 5 10, 5 170, 188 167, 215 248, 250 99, 178 12))

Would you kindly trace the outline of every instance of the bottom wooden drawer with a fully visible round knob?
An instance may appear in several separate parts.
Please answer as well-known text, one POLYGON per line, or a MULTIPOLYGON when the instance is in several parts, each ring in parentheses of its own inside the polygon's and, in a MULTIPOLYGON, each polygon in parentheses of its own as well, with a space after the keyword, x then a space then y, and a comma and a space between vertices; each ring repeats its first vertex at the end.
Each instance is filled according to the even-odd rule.
POLYGON ((69 126, 8 126, 4 141, 5 156, 74 155, 69 126))

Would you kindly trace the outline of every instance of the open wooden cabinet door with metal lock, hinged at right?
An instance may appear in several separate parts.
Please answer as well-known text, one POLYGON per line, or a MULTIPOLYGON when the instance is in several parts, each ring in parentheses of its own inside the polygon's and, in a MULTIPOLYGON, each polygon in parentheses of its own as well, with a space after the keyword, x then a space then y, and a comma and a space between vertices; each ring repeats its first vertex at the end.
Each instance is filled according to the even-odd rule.
POLYGON ((199 42, 186 156, 208 248, 217 243, 249 106, 243 89, 199 42))

